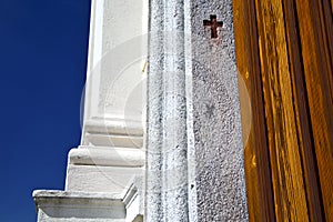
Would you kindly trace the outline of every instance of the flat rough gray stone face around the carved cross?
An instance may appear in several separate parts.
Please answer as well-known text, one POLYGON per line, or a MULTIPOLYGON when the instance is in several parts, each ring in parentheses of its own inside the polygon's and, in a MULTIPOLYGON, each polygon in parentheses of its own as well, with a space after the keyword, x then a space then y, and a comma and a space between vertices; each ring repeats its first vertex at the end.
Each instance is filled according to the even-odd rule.
POLYGON ((199 221, 248 220, 232 1, 191 2, 199 221), (223 21, 219 39, 203 20, 223 21))

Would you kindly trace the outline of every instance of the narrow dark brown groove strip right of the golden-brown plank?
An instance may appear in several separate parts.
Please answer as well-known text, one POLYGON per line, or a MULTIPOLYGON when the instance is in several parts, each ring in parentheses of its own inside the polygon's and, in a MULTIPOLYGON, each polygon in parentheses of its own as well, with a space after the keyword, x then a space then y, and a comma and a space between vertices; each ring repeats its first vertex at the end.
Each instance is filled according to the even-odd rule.
POLYGON ((302 49, 299 34, 297 14, 294 1, 283 0, 284 21, 289 46, 290 72, 292 77, 293 97, 295 98, 295 115, 301 151, 306 203, 311 221, 323 221, 322 199, 313 150, 312 125, 309 113, 307 94, 303 71, 302 49))

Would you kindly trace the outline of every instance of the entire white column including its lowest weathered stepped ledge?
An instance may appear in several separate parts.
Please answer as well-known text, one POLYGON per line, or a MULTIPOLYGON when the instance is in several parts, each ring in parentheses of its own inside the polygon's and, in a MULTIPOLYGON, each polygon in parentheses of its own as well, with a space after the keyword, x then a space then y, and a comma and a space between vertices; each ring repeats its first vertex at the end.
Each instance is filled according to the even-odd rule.
POLYGON ((91 3, 81 144, 65 190, 33 192, 39 222, 142 221, 148 0, 91 3))

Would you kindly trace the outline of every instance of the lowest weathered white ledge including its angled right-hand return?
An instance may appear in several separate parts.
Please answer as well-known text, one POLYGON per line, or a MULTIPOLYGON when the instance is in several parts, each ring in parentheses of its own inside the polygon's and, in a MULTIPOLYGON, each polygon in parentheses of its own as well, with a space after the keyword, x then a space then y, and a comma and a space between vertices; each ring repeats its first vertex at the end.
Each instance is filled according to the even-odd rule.
POLYGON ((124 193, 33 191, 38 222, 143 222, 142 178, 124 193))

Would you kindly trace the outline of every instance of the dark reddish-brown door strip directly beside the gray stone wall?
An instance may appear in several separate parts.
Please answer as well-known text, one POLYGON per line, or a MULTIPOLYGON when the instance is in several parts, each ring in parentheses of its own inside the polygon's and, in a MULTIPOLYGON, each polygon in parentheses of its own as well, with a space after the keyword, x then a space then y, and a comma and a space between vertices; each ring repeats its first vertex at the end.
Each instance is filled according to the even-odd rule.
MULTIPOLYGON (((271 167, 265 132, 254 2, 234 0, 236 58, 250 93, 252 129, 245 144, 246 195, 250 221, 275 221, 271 167), (253 38, 248 38, 249 36, 253 38), (251 179, 251 180, 250 180, 251 179)), ((242 105, 242 104, 241 104, 242 105)), ((242 115, 249 111, 242 110, 242 115)))

